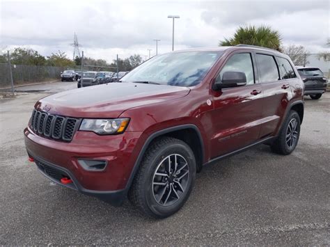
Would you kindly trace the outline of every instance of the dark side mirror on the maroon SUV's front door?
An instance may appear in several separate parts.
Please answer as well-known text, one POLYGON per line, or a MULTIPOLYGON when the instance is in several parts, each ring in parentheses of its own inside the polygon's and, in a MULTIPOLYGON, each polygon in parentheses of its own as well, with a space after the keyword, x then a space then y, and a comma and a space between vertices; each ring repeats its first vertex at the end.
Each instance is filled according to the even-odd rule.
POLYGON ((246 85, 244 72, 226 71, 223 73, 221 81, 216 81, 213 84, 213 89, 220 90, 221 88, 235 88, 244 85, 246 85))

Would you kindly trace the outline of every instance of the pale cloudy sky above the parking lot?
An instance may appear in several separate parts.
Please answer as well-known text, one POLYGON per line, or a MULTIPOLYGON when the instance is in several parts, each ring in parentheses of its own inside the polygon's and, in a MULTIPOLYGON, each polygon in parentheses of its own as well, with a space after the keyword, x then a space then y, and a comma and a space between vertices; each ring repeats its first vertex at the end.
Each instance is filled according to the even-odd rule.
POLYGON ((85 56, 112 61, 116 54, 171 51, 217 46, 239 25, 266 24, 282 35, 283 45, 304 45, 317 53, 327 49, 330 1, 4 1, 1 4, 0 49, 24 46, 49 55, 58 50, 71 58, 77 33, 85 56))

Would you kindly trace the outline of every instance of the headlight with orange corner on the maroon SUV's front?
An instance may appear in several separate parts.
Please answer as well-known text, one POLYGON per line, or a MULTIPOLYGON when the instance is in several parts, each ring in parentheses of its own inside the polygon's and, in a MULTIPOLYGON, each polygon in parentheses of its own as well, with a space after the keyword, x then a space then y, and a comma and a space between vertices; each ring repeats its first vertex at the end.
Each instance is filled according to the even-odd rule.
POLYGON ((129 118, 116 119, 84 119, 79 130, 95 132, 100 135, 123 133, 128 125, 129 118))

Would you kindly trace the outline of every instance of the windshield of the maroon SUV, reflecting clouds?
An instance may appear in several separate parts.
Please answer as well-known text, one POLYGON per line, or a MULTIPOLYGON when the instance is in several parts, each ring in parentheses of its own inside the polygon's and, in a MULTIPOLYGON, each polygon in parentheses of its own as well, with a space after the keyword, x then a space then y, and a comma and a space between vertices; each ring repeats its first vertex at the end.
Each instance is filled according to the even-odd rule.
POLYGON ((196 86, 221 54, 222 51, 186 51, 155 56, 129 72, 121 81, 196 86))

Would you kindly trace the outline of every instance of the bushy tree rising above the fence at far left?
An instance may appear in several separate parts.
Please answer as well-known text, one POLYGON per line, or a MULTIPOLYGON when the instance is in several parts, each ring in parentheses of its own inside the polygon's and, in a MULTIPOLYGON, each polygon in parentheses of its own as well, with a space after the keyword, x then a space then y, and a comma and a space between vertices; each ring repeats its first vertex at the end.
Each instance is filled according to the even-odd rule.
POLYGON ((13 64, 45 65, 46 58, 33 49, 18 47, 10 53, 10 61, 13 64))

